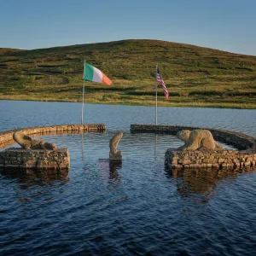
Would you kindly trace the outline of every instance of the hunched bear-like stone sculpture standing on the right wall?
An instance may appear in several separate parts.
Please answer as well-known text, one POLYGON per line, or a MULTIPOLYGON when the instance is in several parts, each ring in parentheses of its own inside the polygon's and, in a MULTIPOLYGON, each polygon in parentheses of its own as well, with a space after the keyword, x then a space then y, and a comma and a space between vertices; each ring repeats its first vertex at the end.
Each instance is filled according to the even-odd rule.
POLYGON ((196 150, 199 148, 224 149, 220 143, 215 142, 211 131, 208 130, 182 130, 177 132, 177 137, 184 142, 184 145, 177 148, 177 150, 196 150))

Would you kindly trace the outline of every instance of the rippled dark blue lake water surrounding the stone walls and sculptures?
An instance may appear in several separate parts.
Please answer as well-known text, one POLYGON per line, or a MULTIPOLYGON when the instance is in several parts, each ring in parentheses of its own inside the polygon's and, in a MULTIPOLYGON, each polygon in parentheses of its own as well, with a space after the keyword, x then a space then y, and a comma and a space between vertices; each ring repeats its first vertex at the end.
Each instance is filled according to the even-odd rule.
MULTIPOLYGON (((256 110, 159 108, 159 124, 244 132, 256 137, 256 110)), ((79 124, 81 104, 0 101, 0 131, 79 124)), ((254 255, 256 172, 165 170, 170 135, 131 134, 154 124, 154 108, 87 105, 84 123, 103 133, 45 136, 67 147, 67 177, 0 174, 1 255, 254 255), (121 164, 108 143, 123 131, 121 164)), ((17 145, 15 145, 17 146, 17 145)))

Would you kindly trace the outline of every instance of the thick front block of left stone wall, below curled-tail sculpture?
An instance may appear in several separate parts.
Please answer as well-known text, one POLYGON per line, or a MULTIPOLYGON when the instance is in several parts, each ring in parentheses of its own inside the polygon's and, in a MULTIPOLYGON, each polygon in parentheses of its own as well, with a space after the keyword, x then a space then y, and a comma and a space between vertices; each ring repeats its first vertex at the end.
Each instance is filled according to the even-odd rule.
POLYGON ((56 150, 8 148, 0 152, 0 168, 19 170, 23 173, 66 172, 70 168, 70 156, 67 148, 56 150))

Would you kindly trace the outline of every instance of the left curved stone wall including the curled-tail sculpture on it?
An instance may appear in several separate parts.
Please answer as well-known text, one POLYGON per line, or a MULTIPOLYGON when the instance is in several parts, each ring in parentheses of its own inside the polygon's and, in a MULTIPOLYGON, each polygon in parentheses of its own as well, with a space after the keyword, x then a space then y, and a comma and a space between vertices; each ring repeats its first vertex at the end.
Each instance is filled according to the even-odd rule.
POLYGON ((106 126, 103 124, 88 124, 41 126, 24 128, 20 131, 1 131, 0 148, 15 142, 19 143, 22 148, 7 148, 0 151, 0 169, 19 170, 23 173, 66 173, 70 169, 68 149, 57 148, 54 143, 33 140, 32 137, 105 130, 106 126))

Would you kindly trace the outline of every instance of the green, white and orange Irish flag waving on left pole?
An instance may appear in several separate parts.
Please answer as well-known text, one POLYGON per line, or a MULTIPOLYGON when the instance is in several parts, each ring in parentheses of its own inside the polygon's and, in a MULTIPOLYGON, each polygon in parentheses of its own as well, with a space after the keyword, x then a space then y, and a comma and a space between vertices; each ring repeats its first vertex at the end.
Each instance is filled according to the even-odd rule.
POLYGON ((91 66, 88 63, 85 63, 84 65, 84 80, 93 81, 96 83, 102 83, 110 85, 112 84, 112 81, 108 79, 108 77, 102 73, 99 69, 96 67, 91 66))

